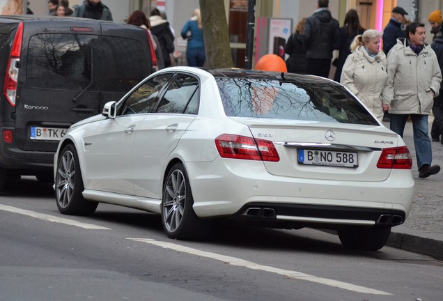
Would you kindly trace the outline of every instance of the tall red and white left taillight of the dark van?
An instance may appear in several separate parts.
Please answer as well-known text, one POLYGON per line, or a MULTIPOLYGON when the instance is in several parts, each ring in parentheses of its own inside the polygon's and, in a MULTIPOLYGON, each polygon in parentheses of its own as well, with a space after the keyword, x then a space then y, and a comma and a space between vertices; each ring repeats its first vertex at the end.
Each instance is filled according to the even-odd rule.
POLYGON ((19 24, 17 33, 15 33, 13 47, 10 50, 8 68, 6 68, 5 82, 3 83, 3 94, 11 106, 15 106, 15 97, 17 96, 17 79, 20 66, 20 53, 22 51, 22 38, 23 22, 19 24))

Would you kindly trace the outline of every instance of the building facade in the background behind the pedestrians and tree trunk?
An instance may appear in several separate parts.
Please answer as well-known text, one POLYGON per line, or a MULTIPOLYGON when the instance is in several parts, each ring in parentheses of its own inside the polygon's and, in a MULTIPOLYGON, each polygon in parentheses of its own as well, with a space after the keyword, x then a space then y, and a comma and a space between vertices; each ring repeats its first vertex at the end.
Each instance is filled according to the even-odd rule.
MULTIPOLYGON (((242 66, 242 55, 245 48, 248 0, 224 0, 226 18, 229 24, 231 47, 233 55, 238 58, 235 65, 242 66), (244 32, 243 32, 244 31, 244 32)), ((70 0, 70 6, 83 3, 83 0, 70 0)), ((185 22, 191 17, 194 8, 199 7, 199 0, 102 0, 114 17, 114 22, 123 23, 134 10, 143 10, 150 15, 153 8, 159 8, 166 13, 167 20, 176 33, 176 49, 185 52, 186 42, 180 38, 180 31, 185 22)), ((289 19, 291 26, 297 24, 302 17, 308 17, 316 10, 316 0, 256 0, 256 18, 269 17, 289 19)), ((359 13, 362 26, 366 29, 382 30, 389 22, 394 6, 403 7, 410 20, 426 24, 428 32, 426 41, 430 43, 430 25, 428 15, 436 9, 443 10, 443 0, 329 0, 332 16, 343 26, 345 13, 354 8, 359 13)), ((36 15, 47 15, 47 0, 29 0, 29 8, 36 15)), ((292 29, 291 29, 292 31, 292 29)), ((255 49, 255 48, 254 48, 255 49)), ((267 49, 271 53, 272 49, 267 49)), ((256 60, 254 60, 256 61, 256 60)))

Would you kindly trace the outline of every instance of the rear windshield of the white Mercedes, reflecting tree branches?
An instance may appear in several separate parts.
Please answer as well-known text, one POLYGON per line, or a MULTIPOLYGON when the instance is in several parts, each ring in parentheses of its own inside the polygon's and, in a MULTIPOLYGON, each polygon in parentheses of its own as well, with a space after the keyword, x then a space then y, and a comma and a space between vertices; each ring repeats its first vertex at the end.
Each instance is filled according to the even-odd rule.
POLYGON ((342 86, 254 77, 216 77, 227 116, 378 125, 342 86))

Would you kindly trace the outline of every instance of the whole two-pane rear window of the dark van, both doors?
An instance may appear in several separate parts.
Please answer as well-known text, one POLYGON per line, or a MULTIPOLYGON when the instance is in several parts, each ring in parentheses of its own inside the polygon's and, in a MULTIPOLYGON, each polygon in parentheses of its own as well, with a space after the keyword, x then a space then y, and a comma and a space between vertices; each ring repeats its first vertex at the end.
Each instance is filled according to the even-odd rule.
POLYGON ((114 36, 38 34, 27 59, 27 81, 36 88, 126 92, 152 71, 139 40, 114 36))

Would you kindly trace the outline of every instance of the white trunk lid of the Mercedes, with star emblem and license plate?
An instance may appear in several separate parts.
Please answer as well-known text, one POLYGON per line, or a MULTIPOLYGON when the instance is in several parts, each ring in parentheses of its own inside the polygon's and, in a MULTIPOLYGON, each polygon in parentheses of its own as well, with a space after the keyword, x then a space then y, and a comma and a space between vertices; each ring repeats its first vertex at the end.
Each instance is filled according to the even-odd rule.
MULTIPOLYGON (((243 121, 244 122, 244 121, 243 121)), ((382 126, 247 121, 254 138, 273 141, 279 162, 264 162, 275 176, 318 180, 386 180, 377 168, 383 148, 398 146, 398 135, 382 126)))

